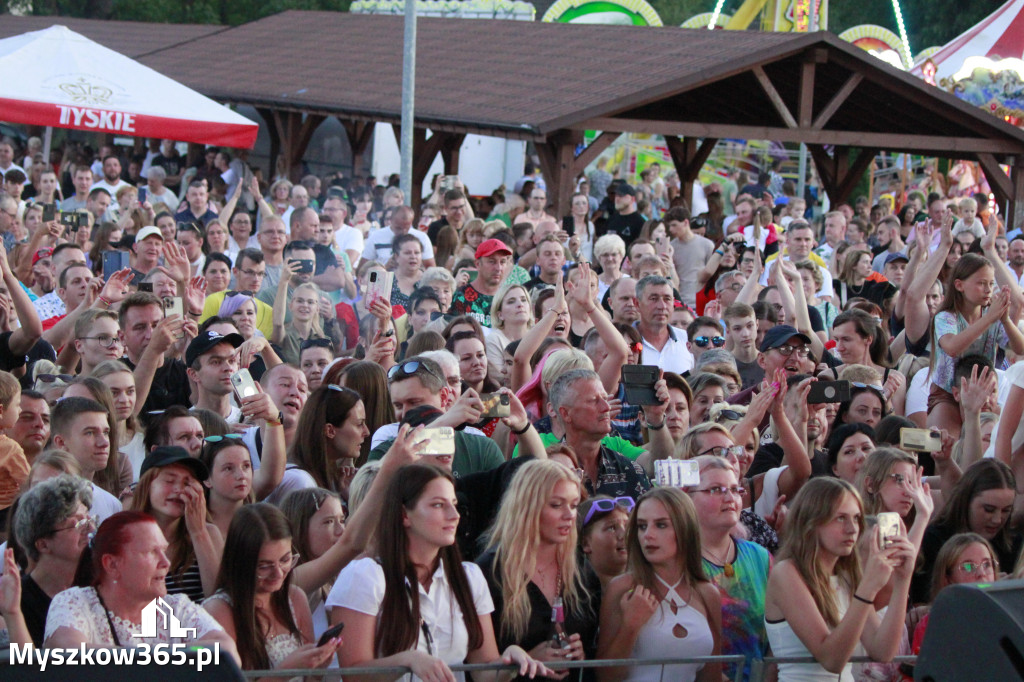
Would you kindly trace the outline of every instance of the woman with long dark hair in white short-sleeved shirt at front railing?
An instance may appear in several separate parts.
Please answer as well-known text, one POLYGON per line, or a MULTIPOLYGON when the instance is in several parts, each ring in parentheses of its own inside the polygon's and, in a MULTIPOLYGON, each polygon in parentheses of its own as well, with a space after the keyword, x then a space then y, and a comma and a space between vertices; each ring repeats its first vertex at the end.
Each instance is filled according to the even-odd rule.
MULTIPOLYGON (((327 605, 346 626, 341 666, 406 666, 423 680, 465 680, 450 665, 515 664, 520 675, 550 675, 518 646, 499 653, 487 584, 456 546, 459 512, 451 474, 433 465, 400 469, 384 495, 378 558, 348 564, 327 605)), ((508 680, 476 673, 474 680, 508 680)))

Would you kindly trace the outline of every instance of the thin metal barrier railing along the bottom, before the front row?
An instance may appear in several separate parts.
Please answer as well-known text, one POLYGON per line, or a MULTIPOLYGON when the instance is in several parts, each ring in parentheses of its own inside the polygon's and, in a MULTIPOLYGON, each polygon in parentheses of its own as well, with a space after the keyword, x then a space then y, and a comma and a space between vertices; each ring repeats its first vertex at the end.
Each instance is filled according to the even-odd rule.
MULTIPOLYGON (((891 663, 916 663, 916 656, 896 656, 891 663)), ((690 656, 688 658, 614 658, 614 659, 596 659, 596 660, 574 660, 574 662, 551 662, 546 664, 551 670, 575 670, 585 668, 617 668, 617 667, 646 667, 646 666, 677 666, 685 664, 706 664, 706 663, 720 663, 722 665, 736 664, 736 674, 733 678, 734 682, 741 682, 743 679, 743 664, 745 658, 742 655, 721 655, 721 656, 690 656)), ((756 659, 751 663, 751 675, 750 682, 763 682, 765 679, 765 674, 768 671, 768 667, 771 664, 816 664, 817 660, 812 656, 766 656, 763 659, 756 659)), ((850 658, 850 663, 862 664, 862 663, 874 663, 868 656, 853 656, 850 658)), ((503 664, 465 664, 461 666, 451 666, 453 673, 460 672, 474 672, 474 671, 514 671, 515 666, 505 666, 503 664)), ((253 670, 245 671, 243 675, 248 679, 257 679, 261 677, 306 677, 306 678, 318 678, 321 680, 337 680, 346 677, 358 677, 360 675, 406 675, 412 673, 413 671, 409 668, 401 666, 395 666, 390 668, 372 668, 369 666, 361 666, 358 668, 313 668, 313 669, 289 669, 289 670, 253 670)), ((569 678, 571 679, 571 678, 569 678)), ((665 680, 664 682, 672 682, 670 680, 665 680)))

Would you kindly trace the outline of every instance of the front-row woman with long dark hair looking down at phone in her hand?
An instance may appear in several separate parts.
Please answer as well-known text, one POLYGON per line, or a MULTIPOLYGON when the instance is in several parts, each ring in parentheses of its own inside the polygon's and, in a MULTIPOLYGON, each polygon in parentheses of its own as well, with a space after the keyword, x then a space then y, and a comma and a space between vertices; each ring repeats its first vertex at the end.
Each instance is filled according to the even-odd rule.
POLYGON ((243 670, 327 666, 341 638, 313 644, 306 595, 292 585, 298 554, 285 515, 262 503, 240 509, 224 550, 217 591, 203 605, 234 639, 243 670))

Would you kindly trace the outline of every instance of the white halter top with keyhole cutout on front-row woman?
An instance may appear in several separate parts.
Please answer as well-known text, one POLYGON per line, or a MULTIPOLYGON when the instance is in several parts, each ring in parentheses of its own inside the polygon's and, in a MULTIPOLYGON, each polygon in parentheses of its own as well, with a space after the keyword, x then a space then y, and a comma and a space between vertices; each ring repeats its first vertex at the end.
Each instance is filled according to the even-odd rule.
MULTIPOLYGON (((711 626, 703 613, 683 601, 676 592, 682 579, 669 585, 660 577, 658 582, 668 592, 662 598, 650 620, 640 629, 633 644, 633 658, 665 658, 686 656, 710 656, 715 648, 711 626)), ((692 588, 690 598, 693 598, 692 588)), ((627 682, 659 682, 678 680, 691 682, 703 664, 679 666, 638 666, 630 669, 627 682)))

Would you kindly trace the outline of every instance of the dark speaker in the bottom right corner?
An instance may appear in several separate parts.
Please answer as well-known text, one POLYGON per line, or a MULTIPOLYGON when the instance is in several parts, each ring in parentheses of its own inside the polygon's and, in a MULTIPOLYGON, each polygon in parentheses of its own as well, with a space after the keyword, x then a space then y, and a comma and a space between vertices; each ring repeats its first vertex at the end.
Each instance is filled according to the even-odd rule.
POLYGON ((913 679, 1024 680, 1024 581, 942 590, 932 605, 913 679))

